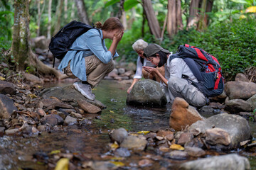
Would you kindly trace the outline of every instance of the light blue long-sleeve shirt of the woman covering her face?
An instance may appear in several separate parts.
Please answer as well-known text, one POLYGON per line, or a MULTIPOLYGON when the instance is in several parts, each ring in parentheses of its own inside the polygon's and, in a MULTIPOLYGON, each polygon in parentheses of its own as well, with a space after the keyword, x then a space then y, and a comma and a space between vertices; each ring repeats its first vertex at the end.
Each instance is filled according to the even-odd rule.
MULTIPOLYGON (((86 66, 84 57, 95 55, 101 62, 107 64, 112 59, 112 53, 107 50, 105 40, 103 39, 102 30, 100 33, 96 29, 88 30, 80 35, 70 47, 63 60, 60 62, 58 69, 63 71, 70 61, 71 72, 82 81, 86 81, 86 66), (85 51, 86 50, 86 51, 85 51)), ((117 52, 114 57, 117 57, 117 52)))

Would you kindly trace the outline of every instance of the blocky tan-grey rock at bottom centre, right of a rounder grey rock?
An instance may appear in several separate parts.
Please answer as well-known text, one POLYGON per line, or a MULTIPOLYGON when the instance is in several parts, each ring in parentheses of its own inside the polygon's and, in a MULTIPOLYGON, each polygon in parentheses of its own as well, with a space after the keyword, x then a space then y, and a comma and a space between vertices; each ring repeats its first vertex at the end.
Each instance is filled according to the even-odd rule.
POLYGON ((146 147, 147 141, 136 137, 136 136, 128 136, 124 139, 121 143, 120 147, 126 147, 127 149, 134 149, 134 150, 144 150, 146 147))

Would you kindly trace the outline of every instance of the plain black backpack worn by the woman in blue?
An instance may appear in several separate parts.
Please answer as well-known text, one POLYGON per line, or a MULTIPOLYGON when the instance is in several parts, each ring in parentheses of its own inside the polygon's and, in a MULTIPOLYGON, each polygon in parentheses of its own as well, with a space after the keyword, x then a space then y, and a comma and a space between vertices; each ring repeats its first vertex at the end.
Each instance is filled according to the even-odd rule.
MULTIPOLYGON (((72 21, 61 28, 58 33, 54 35, 53 38, 51 38, 49 44, 49 50, 53 53, 54 56, 53 67, 55 63, 55 57, 58 60, 62 60, 68 50, 70 50, 69 47, 73 44, 76 38, 92 28, 92 26, 78 21, 72 21)), ((100 33, 100 30, 98 31, 100 33)))

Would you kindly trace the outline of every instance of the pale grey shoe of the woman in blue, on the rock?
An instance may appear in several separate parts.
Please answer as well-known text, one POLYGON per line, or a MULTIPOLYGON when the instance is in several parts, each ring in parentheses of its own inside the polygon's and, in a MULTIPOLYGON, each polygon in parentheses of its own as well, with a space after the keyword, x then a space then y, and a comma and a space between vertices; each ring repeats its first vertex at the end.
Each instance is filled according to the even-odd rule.
POLYGON ((75 82, 73 86, 82 94, 82 96, 85 96, 91 101, 95 99, 95 95, 92 94, 92 88, 90 84, 82 84, 82 82, 75 82))

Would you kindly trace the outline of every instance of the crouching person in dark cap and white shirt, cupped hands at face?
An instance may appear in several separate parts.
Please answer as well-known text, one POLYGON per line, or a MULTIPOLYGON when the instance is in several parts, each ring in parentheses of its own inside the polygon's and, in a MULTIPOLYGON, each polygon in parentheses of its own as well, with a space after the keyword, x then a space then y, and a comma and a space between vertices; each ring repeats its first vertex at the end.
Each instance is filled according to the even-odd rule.
POLYGON ((164 82, 167 101, 173 102, 176 97, 184 98, 189 104, 196 107, 206 105, 207 98, 188 79, 198 82, 186 62, 181 58, 174 58, 170 61, 172 52, 165 50, 160 45, 150 44, 144 49, 144 56, 152 64, 161 67, 164 65, 165 76, 158 69, 143 67, 146 72, 157 74, 164 82), (188 79, 183 79, 187 77, 188 79))

